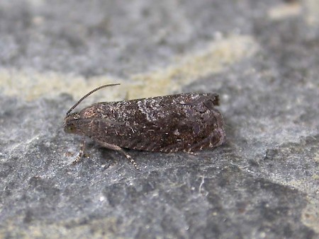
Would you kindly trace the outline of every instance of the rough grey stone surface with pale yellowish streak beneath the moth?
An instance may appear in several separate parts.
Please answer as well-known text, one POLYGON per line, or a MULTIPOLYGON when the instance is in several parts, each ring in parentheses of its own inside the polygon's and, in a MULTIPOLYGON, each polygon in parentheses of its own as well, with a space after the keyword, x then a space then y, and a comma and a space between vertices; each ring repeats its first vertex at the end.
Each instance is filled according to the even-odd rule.
POLYGON ((0 1, 0 238, 319 238, 319 1, 0 1), (228 141, 89 142, 88 98, 220 94, 228 141), (81 108, 81 107, 79 107, 81 108))

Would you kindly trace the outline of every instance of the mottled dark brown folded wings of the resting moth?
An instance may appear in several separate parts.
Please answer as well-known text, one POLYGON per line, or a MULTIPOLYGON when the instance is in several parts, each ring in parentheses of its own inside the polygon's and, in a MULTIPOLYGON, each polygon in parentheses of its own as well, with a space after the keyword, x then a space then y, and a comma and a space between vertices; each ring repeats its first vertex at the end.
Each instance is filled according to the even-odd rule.
POLYGON ((214 93, 186 93, 105 103, 107 115, 94 119, 99 135, 91 138, 145 151, 188 151, 200 148, 204 140, 206 148, 211 141, 207 139, 217 137, 213 132, 221 119, 214 108, 218 99, 214 93))

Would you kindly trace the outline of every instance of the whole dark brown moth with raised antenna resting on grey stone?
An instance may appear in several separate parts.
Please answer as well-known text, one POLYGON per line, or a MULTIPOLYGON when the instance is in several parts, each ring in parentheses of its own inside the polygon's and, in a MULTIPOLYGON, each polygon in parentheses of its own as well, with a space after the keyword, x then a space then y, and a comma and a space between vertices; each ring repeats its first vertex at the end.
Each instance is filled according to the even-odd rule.
MULTIPOLYGON (((119 84, 103 85, 84 95, 65 117, 66 133, 89 137, 105 148, 123 153, 138 168, 123 148, 152 152, 194 152, 214 148, 225 141, 223 117, 216 110, 216 93, 181 93, 137 100, 101 102, 71 113, 84 98, 99 89, 119 84)), ((84 155, 82 141, 77 163, 84 155)))

